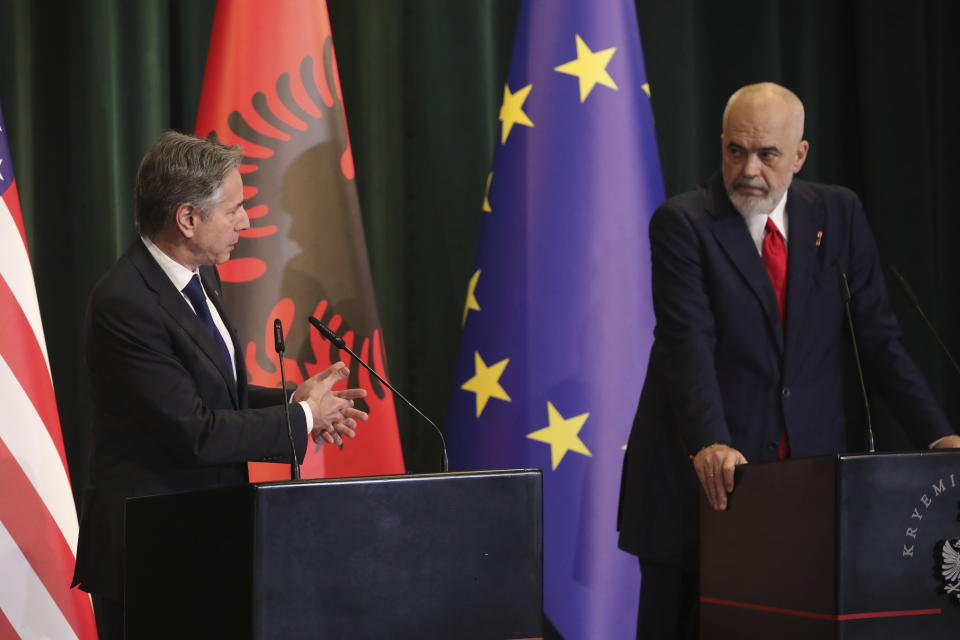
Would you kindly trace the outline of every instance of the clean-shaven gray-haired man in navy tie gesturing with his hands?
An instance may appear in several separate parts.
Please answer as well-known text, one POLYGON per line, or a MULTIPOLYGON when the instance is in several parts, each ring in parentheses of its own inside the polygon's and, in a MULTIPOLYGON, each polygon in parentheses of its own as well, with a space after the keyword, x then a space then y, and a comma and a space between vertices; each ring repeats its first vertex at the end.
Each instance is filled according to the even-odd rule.
MULTIPOLYGON (((246 462, 290 458, 282 389, 254 388, 214 265, 250 226, 237 146, 166 132, 137 174, 140 238, 97 283, 85 322, 94 405, 74 586, 94 595, 101 638, 122 637, 124 501, 246 482, 246 462)), ((342 443, 367 415, 333 391, 337 363, 293 393, 297 456, 342 443)))

